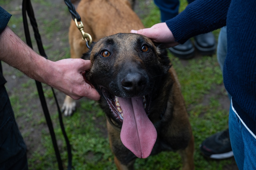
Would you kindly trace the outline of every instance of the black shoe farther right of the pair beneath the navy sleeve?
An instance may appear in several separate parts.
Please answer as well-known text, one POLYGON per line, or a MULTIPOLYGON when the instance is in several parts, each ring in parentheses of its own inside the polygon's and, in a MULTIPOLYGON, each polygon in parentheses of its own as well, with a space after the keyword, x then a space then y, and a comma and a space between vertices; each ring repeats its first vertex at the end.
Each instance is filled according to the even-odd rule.
POLYGON ((216 50, 216 42, 212 32, 200 34, 194 37, 195 47, 201 55, 212 55, 216 50))

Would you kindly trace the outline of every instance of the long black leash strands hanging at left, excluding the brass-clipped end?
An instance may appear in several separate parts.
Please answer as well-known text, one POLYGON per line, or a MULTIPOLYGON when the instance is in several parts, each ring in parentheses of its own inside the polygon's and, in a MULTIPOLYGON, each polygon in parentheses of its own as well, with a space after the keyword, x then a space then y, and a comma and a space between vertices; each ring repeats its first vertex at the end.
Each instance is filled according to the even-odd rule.
MULTIPOLYGON (((47 56, 45 54, 45 51, 44 51, 44 48, 43 48, 43 45, 42 45, 41 36, 40 36, 38 28, 37 28, 37 23, 36 23, 36 19, 35 19, 35 16, 34 16, 34 11, 33 11, 30 0, 23 0, 23 2, 22 2, 22 15, 23 15, 23 24, 24 24, 26 41, 27 41, 27 44, 31 48, 33 48, 32 43, 31 43, 30 34, 29 34, 29 29, 28 29, 28 21, 27 21, 26 13, 27 13, 27 15, 30 19, 30 23, 31 23, 31 25, 33 27, 33 30, 34 30, 34 36, 35 36, 35 39, 36 39, 36 42, 37 42, 39 53, 40 53, 40 55, 44 56, 47 59, 47 56)), ((37 86, 38 94, 39 94, 39 97, 40 97, 42 109, 43 109, 44 114, 45 114, 45 119, 46 119, 46 122, 47 122, 47 125, 48 125, 48 128, 49 128, 49 131, 50 131, 52 143, 53 143, 56 158, 57 158, 57 161, 58 161, 58 167, 59 167, 59 170, 63 170, 62 161, 61 161, 61 157, 60 157, 60 152, 59 152, 58 145, 57 145, 57 142, 56 142, 56 137, 55 137, 54 129, 53 129, 53 126, 52 126, 51 117, 50 117, 50 114, 49 114, 49 111, 48 111, 48 108, 47 108, 47 104, 46 104, 46 100, 45 100, 45 96, 44 96, 44 91, 42 89, 42 84, 40 82, 36 81, 36 86, 37 86)), ((69 140, 68 140, 68 137, 66 135, 64 126, 63 126, 61 111, 60 111, 59 104, 58 104, 58 101, 57 101, 57 98, 56 98, 56 95, 54 93, 53 88, 52 88, 52 92, 54 94, 55 101, 56 101, 57 108, 58 108, 58 112, 59 112, 59 121, 60 121, 61 130, 62 130, 62 133, 65 137, 66 144, 67 144, 68 169, 71 170, 72 169, 71 146, 69 144, 69 140)))

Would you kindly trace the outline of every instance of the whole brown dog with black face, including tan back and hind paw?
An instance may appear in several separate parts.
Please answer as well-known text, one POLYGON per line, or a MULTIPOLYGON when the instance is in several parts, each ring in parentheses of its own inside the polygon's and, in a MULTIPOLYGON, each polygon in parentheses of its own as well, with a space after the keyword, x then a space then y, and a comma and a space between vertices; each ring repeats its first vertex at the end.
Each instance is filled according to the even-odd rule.
MULTIPOLYGON (((126 0, 81 0, 77 11, 93 41, 112 35, 97 42, 84 59, 91 59, 87 79, 102 96, 118 169, 133 169, 136 157, 162 150, 179 151, 183 169, 194 169, 194 137, 166 51, 142 35, 116 34, 144 28, 126 0)), ((71 58, 88 51, 73 21, 69 38, 71 58)), ((67 96, 65 115, 74 108, 67 96)))

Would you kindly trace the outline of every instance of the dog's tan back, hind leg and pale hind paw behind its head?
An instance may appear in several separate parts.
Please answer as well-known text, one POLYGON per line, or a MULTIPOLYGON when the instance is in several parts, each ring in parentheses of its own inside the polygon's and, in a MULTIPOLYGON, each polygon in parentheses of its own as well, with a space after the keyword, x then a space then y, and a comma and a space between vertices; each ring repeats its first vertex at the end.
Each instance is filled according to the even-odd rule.
MULTIPOLYGON (((94 42, 108 35, 144 28, 128 0, 81 0, 76 10, 84 25, 84 32, 90 34, 94 42)), ((73 20, 69 28, 69 44, 71 58, 81 58, 89 50, 73 20)), ((76 102, 66 96, 62 106, 64 114, 71 115, 75 108, 76 102)))

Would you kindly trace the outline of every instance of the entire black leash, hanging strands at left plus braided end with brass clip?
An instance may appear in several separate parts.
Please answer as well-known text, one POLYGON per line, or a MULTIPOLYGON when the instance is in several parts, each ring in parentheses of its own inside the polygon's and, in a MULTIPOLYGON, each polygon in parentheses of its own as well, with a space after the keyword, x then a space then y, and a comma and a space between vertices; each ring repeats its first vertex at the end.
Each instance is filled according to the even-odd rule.
MULTIPOLYGON (((72 19, 75 21, 77 28, 79 29, 79 31, 82 34, 82 40, 85 40, 87 48, 91 49, 90 45, 92 43, 92 37, 91 37, 90 34, 84 32, 84 26, 83 26, 83 23, 81 21, 80 15, 77 13, 77 11, 75 10, 74 5, 71 3, 70 0, 64 0, 64 1, 65 1, 66 5, 68 6, 69 12, 72 15, 72 19)), ((28 21, 27 21, 26 13, 27 13, 27 15, 30 19, 30 23, 33 27, 34 36, 35 36, 35 39, 36 39, 36 42, 37 42, 39 53, 40 53, 41 56, 43 56, 47 59, 47 56, 45 54, 45 51, 44 51, 44 48, 43 48, 43 45, 42 45, 41 36, 39 34, 39 30, 38 30, 38 27, 37 27, 34 11, 33 11, 30 0, 23 0, 23 2, 22 2, 22 15, 23 15, 23 24, 24 24, 24 31, 25 31, 26 41, 27 41, 27 44, 33 49, 30 34, 29 34, 29 29, 28 29, 28 21)), ((2 70, 2 67, 1 67, 1 70, 2 70)), ((54 129, 53 129, 53 126, 52 126, 51 117, 50 117, 50 114, 49 114, 49 111, 48 111, 48 107, 47 107, 47 104, 46 104, 44 91, 42 89, 41 82, 36 81, 36 86, 37 86, 40 102, 41 102, 41 105, 42 105, 42 109, 44 111, 45 119, 46 119, 46 122, 47 122, 47 125, 48 125, 48 128, 49 128, 49 131, 50 131, 52 143, 53 143, 54 150, 55 150, 55 155, 56 155, 56 158, 57 158, 57 161, 58 161, 58 167, 59 167, 59 170, 63 170, 62 160, 61 160, 59 148, 58 148, 57 141, 56 141, 56 136, 55 136, 54 129)), ((66 145, 67 145, 68 170, 71 170, 72 169, 71 146, 70 146, 70 143, 69 143, 67 134, 65 132, 64 125, 63 125, 62 114, 61 114, 61 111, 60 111, 58 100, 56 98, 54 89, 53 88, 51 88, 51 89, 52 89, 52 93, 54 95, 55 102, 56 102, 57 109, 58 109, 58 113, 59 113, 59 122, 60 122, 61 130, 62 130, 62 134, 65 138, 66 145)))

